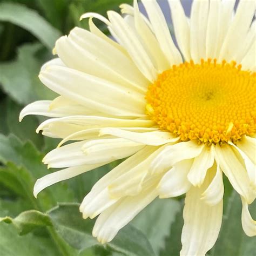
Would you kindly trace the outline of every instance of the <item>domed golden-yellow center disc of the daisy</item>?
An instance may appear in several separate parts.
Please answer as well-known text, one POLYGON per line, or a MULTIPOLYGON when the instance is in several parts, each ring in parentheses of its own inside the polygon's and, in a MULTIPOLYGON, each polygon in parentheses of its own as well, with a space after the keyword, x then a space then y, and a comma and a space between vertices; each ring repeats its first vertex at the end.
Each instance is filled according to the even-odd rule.
POLYGON ((256 132, 256 73, 235 62, 185 62, 161 73, 146 93, 146 112, 181 140, 236 142, 256 132))

